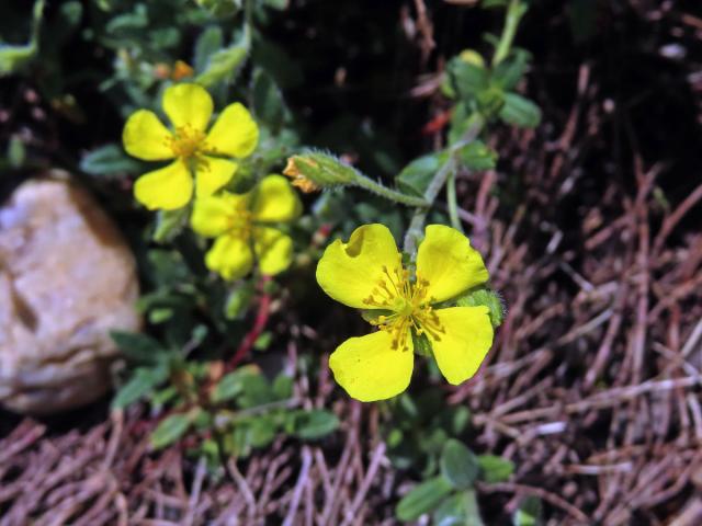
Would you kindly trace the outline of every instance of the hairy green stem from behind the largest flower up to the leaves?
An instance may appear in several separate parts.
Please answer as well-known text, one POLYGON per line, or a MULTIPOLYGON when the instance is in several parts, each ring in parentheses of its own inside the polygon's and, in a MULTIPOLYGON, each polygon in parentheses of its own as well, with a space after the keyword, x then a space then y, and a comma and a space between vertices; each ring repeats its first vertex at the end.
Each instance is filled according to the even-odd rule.
MULTIPOLYGON (((441 192, 441 188, 446 183, 446 180, 451 174, 455 174, 458 169, 458 155, 461 150, 465 148, 467 145, 473 142, 485 126, 485 119, 479 115, 475 114, 473 117, 473 123, 464 134, 462 140, 455 142, 451 149, 449 150, 449 159, 441 167, 441 169, 434 174, 433 179, 429 183, 427 191, 424 192, 424 201, 428 206, 431 206, 433 202, 437 199, 437 195, 441 192)), ((409 228, 405 233, 405 243, 404 249, 405 252, 415 256, 415 251, 417 250, 417 240, 421 238, 422 228, 424 226, 424 221, 427 220, 428 208, 421 208, 415 211, 412 216, 412 220, 409 224, 409 228)))

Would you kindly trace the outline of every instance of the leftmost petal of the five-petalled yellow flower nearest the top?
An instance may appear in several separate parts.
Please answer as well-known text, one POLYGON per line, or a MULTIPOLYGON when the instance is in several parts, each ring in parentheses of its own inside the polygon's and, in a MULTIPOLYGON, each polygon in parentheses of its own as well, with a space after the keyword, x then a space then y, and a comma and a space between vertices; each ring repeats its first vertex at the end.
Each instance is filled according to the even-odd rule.
POLYGON ((134 112, 122 132, 122 144, 127 153, 145 161, 173 159, 176 156, 170 147, 171 140, 171 133, 148 110, 134 112))

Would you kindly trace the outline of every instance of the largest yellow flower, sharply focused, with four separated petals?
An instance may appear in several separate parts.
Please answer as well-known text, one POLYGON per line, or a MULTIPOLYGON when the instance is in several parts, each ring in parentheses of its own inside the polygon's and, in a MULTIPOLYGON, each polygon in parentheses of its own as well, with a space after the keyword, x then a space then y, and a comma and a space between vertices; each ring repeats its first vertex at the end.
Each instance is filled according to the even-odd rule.
POLYGON ((403 267, 383 225, 355 229, 348 243, 335 241, 319 261, 317 282, 325 293, 376 315, 369 319, 377 332, 347 340, 329 358, 336 380, 358 400, 383 400, 407 388, 414 338, 427 336, 439 369, 453 385, 471 378, 492 345, 487 307, 438 305, 488 278, 468 238, 450 227, 428 226, 416 274, 415 279, 403 267))

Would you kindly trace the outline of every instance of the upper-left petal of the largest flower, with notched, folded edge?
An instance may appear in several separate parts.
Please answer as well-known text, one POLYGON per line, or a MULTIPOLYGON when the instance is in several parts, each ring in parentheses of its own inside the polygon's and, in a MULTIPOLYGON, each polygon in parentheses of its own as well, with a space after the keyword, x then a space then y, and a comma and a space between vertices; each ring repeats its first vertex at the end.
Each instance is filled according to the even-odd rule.
POLYGON ((325 250, 317 265, 317 283, 337 301, 367 309, 363 300, 380 282, 401 272, 401 259, 393 235, 384 225, 356 228, 348 243, 336 240, 325 250))

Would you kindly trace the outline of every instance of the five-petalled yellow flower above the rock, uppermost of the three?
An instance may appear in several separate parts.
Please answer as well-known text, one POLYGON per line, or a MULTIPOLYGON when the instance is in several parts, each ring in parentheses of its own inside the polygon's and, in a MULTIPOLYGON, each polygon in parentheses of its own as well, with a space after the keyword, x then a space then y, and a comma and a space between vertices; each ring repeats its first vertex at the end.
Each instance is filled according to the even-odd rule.
POLYGON ((163 93, 163 111, 173 125, 170 132, 154 112, 138 110, 124 125, 122 141, 132 156, 145 161, 173 162, 140 176, 134 196, 148 209, 171 210, 185 206, 195 192, 212 195, 234 176, 237 163, 223 157, 249 156, 259 139, 259 129, 248 110, 229 104, 205 134, 213 103, 197 84, 172 85, 163 93))

